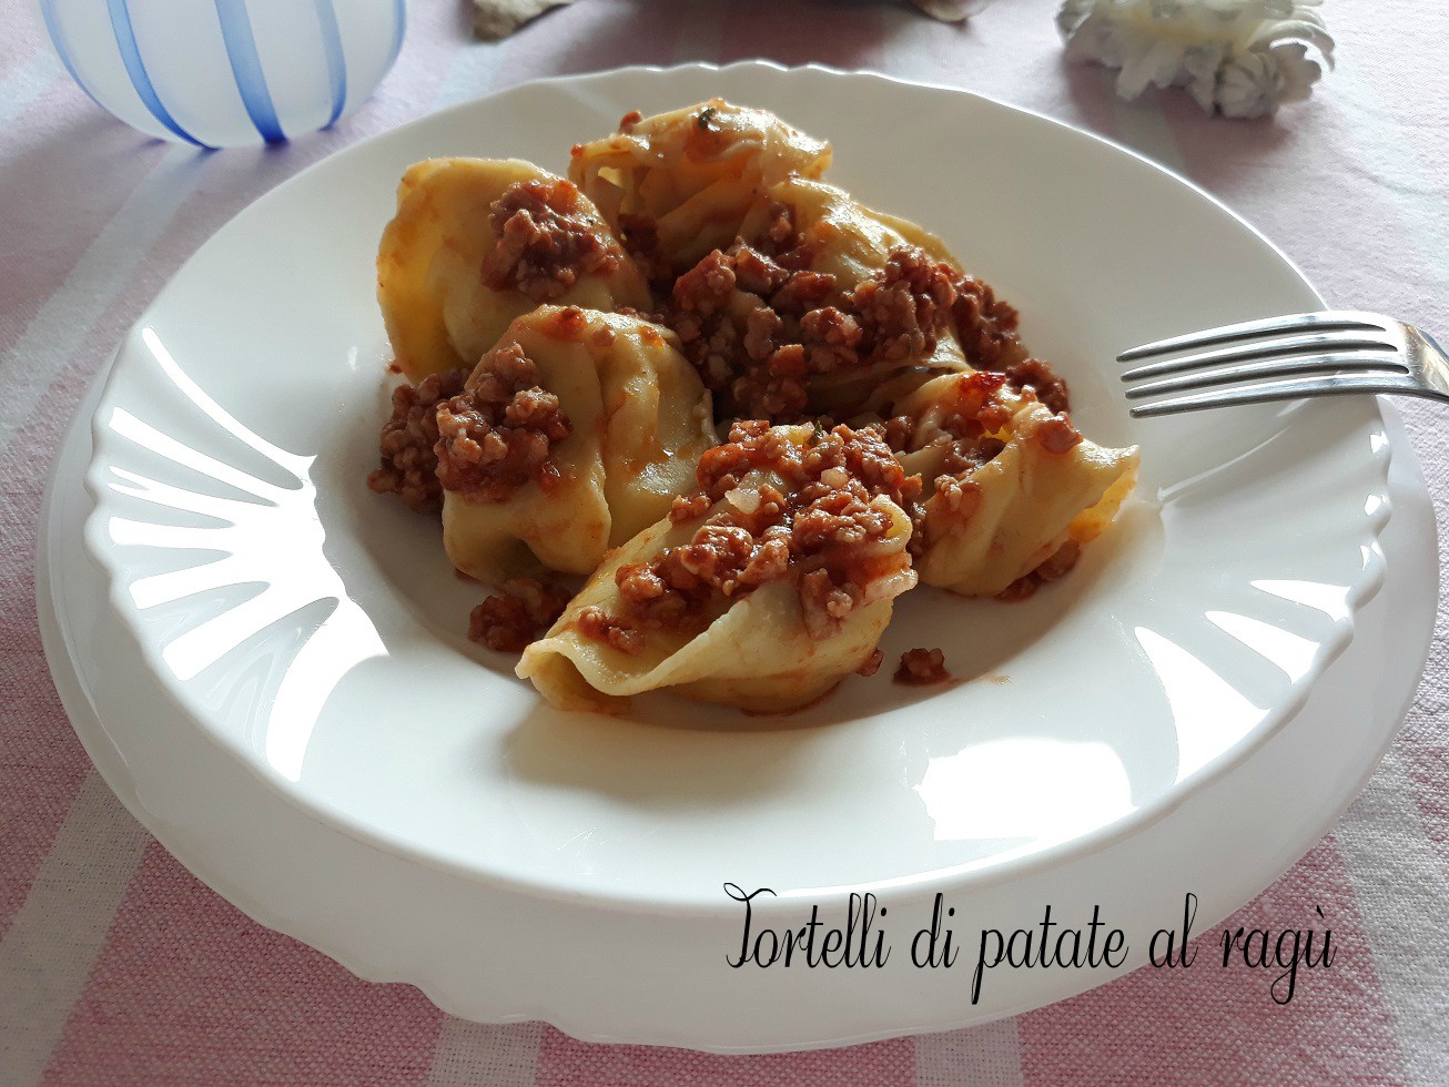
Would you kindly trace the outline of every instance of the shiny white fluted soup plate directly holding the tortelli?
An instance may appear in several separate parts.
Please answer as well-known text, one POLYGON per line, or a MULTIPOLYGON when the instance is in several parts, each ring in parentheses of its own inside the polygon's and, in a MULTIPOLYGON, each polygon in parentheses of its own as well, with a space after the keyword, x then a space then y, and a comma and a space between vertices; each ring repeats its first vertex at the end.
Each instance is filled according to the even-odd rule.
MULTIPOLYGON (((107 619, 188 729, 332 830, 478 894, 582 903, 636 928, 688 917, 716 935, 738 929, 726 881, 769 886, 781 909, 832 909, 862 887, 972 894, 1130 841, 1239 767, 1348 645, 1384 572, 1390 442, 1374 401, 1135 425, 1108 361, 1184 328, 1314 306, 1201 193, 974 96, 769 65, 533 84, 333 157, 197 254, 122 346, 94 416, 87 544, 110 575, 107 619), (387 355, 372 254, 403 167, 483 154, 562 168, 572 142, 629 109, 713 94, 830 138, 835 181, 940 232, 1023 309, 1087 433, 1143 446, 1139 500, 1061 586, 1016 607, 920 591, 898 609, 888 654, 942 645, 958 671, 997 681, 932 694, 852 678, 782 729, 740 730, 733 712, 665 696, 632 722, 556 713, 464 639, 480 594, 452 577, 436 529, 364 486, 387 355), (994 154, 953 158, 966 145, 942 132, 994 154)), ((141 783, 136 799, 168 807, 141 783)), ((656 938, 685 941, 681 959, 700 951, 682 928, 656 938)), ((367 973, 429 980, 396 962, 367 973)), ((701 1007, 598 1026, 559 1010, 562 996, 510 1004, 496 987, 443 984, 477 1017, 714 1046, 987 1010, 881 1028, 824 1001, 798 1030, 746 1016, 755 1026, 711 1039, 698 1023, 719 1016, 701 1007)), ((1023 999, 1036 1000, 1009 987, 991 1007, 1023 999)))

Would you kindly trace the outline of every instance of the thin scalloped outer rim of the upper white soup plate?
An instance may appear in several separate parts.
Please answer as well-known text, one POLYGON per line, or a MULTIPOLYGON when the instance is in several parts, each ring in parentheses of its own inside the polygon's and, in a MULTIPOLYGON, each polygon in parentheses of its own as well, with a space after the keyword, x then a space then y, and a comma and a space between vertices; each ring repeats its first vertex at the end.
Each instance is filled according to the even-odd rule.
MULTIPOLYGON (((716 65, 716 64, 680 64, 680 65, 623 65, 616 68, 609 68, 603 71, 587 71, 565 75, 551 75, 536 80, 529 80, 523 83, 513 84, 510 87, 491 91, 465 101, 455 103, 442 110, 426 113, 423 116, 414 117, 403 125, 397 125, 385 132, 375 133, 367 139, 349 143, 346 148, 310 164, 309 167, 300 170, 293 177, 277 184, 274 188, 261 194, 256 200, 251 201, 245 207, 239 209, 236 215, 229 217, 226 223, 217 228, 216 232, 206 242, 203 242, 191 257, 187 258, 167 280, 167 283, 159 288, 156 297, 142 310, 136 322, 123 333, 120 346, 117 349, 116 359, 109 368, 103 387, 100 390, 100 397, 97 401, 96 413, 91 419, 91 442, 93 442, 93 458, 85 470, 85 487, 94 500, 94 509, 85 522, 84 542, 85 549, 93 561, 96 561, 106 577, 109 578, 109 604, 113 613, 120 619, 122 628, 135 639, 143 658, 152 664, 155 671, 155 649, 148 645, 146 639, 141 636, 138 625, 133 622, 133 609, 125 600, 125 583, 119 577, 123 562, 117 562, 112 554, 112 546, 109 541, 103 538, 103 509, 104 509, 104 487, 100 483, 100 472, 103 471, 106 462, 101 459, 101 452, 106 445, 101 416, 106 413, 107 407, 112 404, 112 397, 116 393, 116 387, 120 381, 120 372, 123 367, 120 365, 120 357, 135 338, 139 336, 141 330, 145 328, 152 313, 165 301, 168 291, 177 280, 187 275, 194 262, 204 258, 207 249, 214 243, 216 238, 223 232, 227 232, 235 220, 243 215, 248 215, 258 206, 270 203, 274 199, 283 199, 294 186, 300 186, 304 178, 310 177, 313 171, 327 168, 335 159, 346 158, 361 149, 372 145, 380 139, 385 139, 396 132, 420 126, 423 123, 432 123, 440 117, 448 117, 454 114, 464 114, 469 110, 477 110, 481 103, 497 101, 507 99, 514 94, 526 94, 543 87, 555 86, 580 86, 596 81, 610 81, 627 77, 642 75, 645 78, 668 75, 672 72, 738 72, 742 70, 769 70, 785 77, 791 74, 801 72, 814 75, 823 75, 826 78, 848 78, 848 80, 864 80, 864 81, 881 81, 888 84, 895 84, 907 88, 926 88, 933 91, 945 91, 952 96, 964 96, 968 99, 975 99, 980 101, 990 103, 998 109, 1007 110, 1014 114, 1023 114, 1035 120, 1046 122, 1051 125, 1058 135, 1069 135, 1071 138, 1085 143, 1085 145, 1106 145, 1107 148, 1127 155, 1139 165, 1149 167, 1155 174, 1159 174, 1171 184, 1185 187, 1194 196, 1206 200, 1208 204, 1216 207, 1220 213, 1232 219, 1239 228, 1246 230, 1259 245, 1262 245, 1268 252, 1271 252, 1282 265, 1287 268, 1301 284, 1301 287, 1317 299, 1319 304, 1323 304, 1321 296, 1313 287, 1303 270, 1282 252, 1269 238, 1266 238, 1258 228, 1249 223, 1246 219, 1233 212, 1226 203, 1214 197, 1211 193, 1206 191, 1188 178, 1181 177, 1172 170, 1155 162, 1153 159, 1142 155, 1140 152, 1122 145, 1120 142, 1101 136, 1098 133, 1085 130, 1072 125, 1069 122, 1061 120, 1058 117, 1048 116, 1037 110, 1029 107, 1016 106, 1001 99, 993 97, 990 94, 982 94, 978 91, 964 90, 959 87, 949 87, 939 83, 927 83, 917 80, 907 80, 894 75, 885 75, 872 71, 852 71, 840 70, 822 64, 809 65, 781 65, 774 61, 736 61, 732 64, 716 65)), ((1379 433, 1384 433, 1384 417, 1378 407, 1377 400, 1374 401, 1372 420, 1377 422, 1379 433)), ((1378 493, 1375 497, 1379 499, 1379 515, 1372 520, 1372 528, 1369 533, 1369 542, 1372 544, 1369 559, 1365 564, 1364 571, 1359 574, 1358 580, 1350 586, 1350 593, 1348 599, 1348 616, 1337 625, 1335 633, 1320 642, 1314 651, 1313 662, 1310 671, 1301 677, 1298 681, 1293 683, 1287 696, 1277 701, 1249 732, 1246 732, 1236 744, 1229 749, 1219 754, 1204 765, 1198 767, 1184 778, 1179 778, 1166 793, 1153 800, 1135 807, 1130 813, 1120 816, 1108 823, 1094 828, 1087 833, 1069 838, 1062 842, 1056 842, 1040 849, 1036 849, 1026 855, 1007 857, 1007 858, 984 858, 978 861, 968 861, 958 865, 948 865, 943 868, 927 870, 922 872, 913 872, 910 875, 891 877, 885 880, 875 880, 869 883, 858 884, 840 884, 827 887, 797 887, 780 891, 781 901, 790 900, 811 900, 820 903, 839 901, 845 899, 852 891, 906 891, 919 890, 926 886, 936 886, 942 888, 985 888, 1000 886, 1013 880, 1020 880, 1056 865, 1061 865, 1075 857, 1088 855, 1107 848, 1108 845, 1117 844, 1126 838, 1130 838, 1140 830, 1161 822, 1164 817, 1177 810, 1184 804, 1191 796, 1201 791, 1204 787, 1220 780, 1226 774, 1239 768, 1246 762, 1258 749, 1261 749, 1274 735, 1277 735, 1301 709, 1303 703, 1307 700, 1308 693, 1313 688, 1314 681, 1323 674, 1323 671, 1348 648, 1349 642, 1355 636, 1355 615, 1358 610, 1371 600, 1384 583, 1384 561, 1382 552, 1378 546, 1378 541, 1384 528, 1387 526, 1390 517, 1392 516, 1392 507, 1388 496, 1388 468, 1390 458, 1392 454, 1391 443, 1384 442, 1382 449, 1375 455, 1378 462, 1378 493), (1342 629, 1339 629, 1342 628, 1342 629)), ((485 871, 475 865, 461 862, 451 857, 439 855, 432 849, 419 849, 416 845, 409 844, 401 836, 388 835, 377 828, 362 825, 355 822, 348 813, 336 810, 332 806, 319 803, 314 799, 301 796, 290 788, 287 788, 287 781, 275 772, 270 772, 270 768, 258 765, 255 759, 248 758, 238 745, 232 744, 227 738, 219 735, 214 729, 207 728, 200 720, 196 720, 191 712, 185 707, 185 703, 178 697, 174 688, 164 681, 161 688, 167 696, 181 709, 181 712, 193 722, 197 730, 213 745, 222 748, 230 758, 241 762, 254 777, 265 783, 272 791, 280 794, 287 803, 298 807, 309 817, 354 838, 365 845, 385 851, 396 857, 401 857, 409 861, 414 861, 430 868, 438 868, 455 875, 465 877, 471 881, 481 883, 485 886, 500 887, 510 891, 526 893, 533 896, 545 896, 559 900, 578 900, 588 899, 601 906, 610 909, 622 910, 636 910, 648 912, 651 915, 668 913, 668 915, 688 915, 688 916, 719 916, 723 913, 730 913, 733 903, 729 900, 716 901, 704 900, 698 897, 682 897, 671 896, 661 899, 653 891, 648 894, 632 894, 626 890, 617 887, 580 887, 580 886, 564 886, 561 881, 545 881, 526 878, 516 872, 497 872, 485 871)))

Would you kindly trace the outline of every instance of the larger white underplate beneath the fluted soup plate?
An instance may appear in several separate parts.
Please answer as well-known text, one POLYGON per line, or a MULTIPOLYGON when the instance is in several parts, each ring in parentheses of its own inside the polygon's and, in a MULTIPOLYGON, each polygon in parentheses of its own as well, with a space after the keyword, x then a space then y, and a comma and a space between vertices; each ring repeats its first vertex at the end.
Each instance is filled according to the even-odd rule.
MULTIPOLYGON (((212 744, 145 668, 81 545, 94 403, 51 478, 36 603, 65 710, 110 787, 201 880, 356 974, 417 984, 454 1015, 546 1019, 588 1041, 722 1052, 840 1045, 985 1022, 1135 968, 1146 961, 1145 935, 1174 922, 1187 891, 1200 897, 1206 932, 1323 836, 1397 732, 1433 632, 1435 594, 1424 591, 1437 584, 1433 509, 1391 416, 1384 588, 1358 612, 1358 636, 1304 707, 1252 758, 1100 851, 1000 881, 939 884, 958 933, 1006 930, 1045 904, 1080 926, 1100 907, 1133 936, 1120 970, 998 970, 971 1003, 969 958, 946 971, 903 958, 932 912, 936 887, 924 884, 881 899, 904 919, 891 925, 901 951, 884 970, 739 973, 724 965, 738 916, 542 897, 372 849, 310 819, 212 744)), ((800 925, 796 906, 788 920, 800 925)), ((827 901, 823 916, 835 923, 839 910, 827 901)))

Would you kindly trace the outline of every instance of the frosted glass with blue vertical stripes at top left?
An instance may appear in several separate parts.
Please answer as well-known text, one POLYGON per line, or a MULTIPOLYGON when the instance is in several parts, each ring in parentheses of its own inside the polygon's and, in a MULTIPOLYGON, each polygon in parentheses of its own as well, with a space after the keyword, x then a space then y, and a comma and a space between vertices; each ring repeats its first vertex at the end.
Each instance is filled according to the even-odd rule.
POLYGON ((403 45, 403 0, 33 0, 97 104, 159 139, 275 143, 361 106, 403 45))

